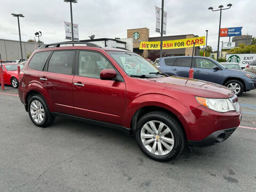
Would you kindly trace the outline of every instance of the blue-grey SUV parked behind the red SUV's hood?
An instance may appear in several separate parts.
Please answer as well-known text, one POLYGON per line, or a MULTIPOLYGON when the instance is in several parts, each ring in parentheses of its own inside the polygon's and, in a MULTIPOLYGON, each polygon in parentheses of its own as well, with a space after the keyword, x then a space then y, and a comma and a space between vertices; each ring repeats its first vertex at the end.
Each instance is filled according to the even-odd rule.
MULTIPOLYGON (((188 77, 191 56, 160 58, 156 67, 163 73, 188 77)), ((256 76, 247 71, 227 69, 221 63, 206 57, 195 56, 192 63, 194 78, 227 86, 236 95, 256 88, 256 76)))

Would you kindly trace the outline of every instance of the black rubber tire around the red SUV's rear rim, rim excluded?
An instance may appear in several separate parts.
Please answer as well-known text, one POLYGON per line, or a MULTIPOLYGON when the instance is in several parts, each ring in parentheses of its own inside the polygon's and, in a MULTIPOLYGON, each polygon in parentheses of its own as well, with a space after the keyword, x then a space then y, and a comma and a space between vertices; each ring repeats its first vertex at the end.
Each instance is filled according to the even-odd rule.
POLYGON ((31 119, 31 121, 36 125, 36 126, 39 126, 39 127, 46 127, 46 126, 49 126, 50 124, 53 123, 55 117, 51 114, 51 111, 49 110, 48 106, 47 106, 47 103, 46 101, 44 100, 44 98, 42 97, 42 95, 33 95, 31 98, 29 98, 29 101, 28 101, 28 114, 29 114, 29 117, 31 119), (42 122, 36 122, 35 119, 32 117, 31 115, 31 110, 30 110, 30 106, 31 106, 31 103, 35 101, 39 101, 39 103, 41 103, 42 107, 43 107, 43 110, 44 110, 44 118, 43 118, 43 121, 42 122))

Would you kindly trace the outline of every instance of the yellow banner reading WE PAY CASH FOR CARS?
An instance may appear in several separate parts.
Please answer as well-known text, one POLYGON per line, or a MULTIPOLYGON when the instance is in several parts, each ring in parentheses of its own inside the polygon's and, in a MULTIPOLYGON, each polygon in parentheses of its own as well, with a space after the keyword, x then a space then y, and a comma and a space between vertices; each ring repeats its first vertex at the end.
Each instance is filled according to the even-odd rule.
MULTIPOLYGON (((177 39, 171 41, 163 41, 163 49, 179 49, 186 47, 195 46, 204 46, 205 45, 205 36, 203 37, 194 37, 187 39, 177 39)), ((159 50, 160 42, 140 42, 140 49, 142 50, 159 50)))

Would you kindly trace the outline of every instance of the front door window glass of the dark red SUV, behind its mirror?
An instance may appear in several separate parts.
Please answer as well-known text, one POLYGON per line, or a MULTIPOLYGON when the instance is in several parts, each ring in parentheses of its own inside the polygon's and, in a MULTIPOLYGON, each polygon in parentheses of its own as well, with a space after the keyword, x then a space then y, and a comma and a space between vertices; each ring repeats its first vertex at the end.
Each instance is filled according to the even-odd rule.
POLYGON ((78 75, 84 77, 100 78, 102 69, 114 69, 108 60, 100 53, 80 51, 78 61, 78 75))

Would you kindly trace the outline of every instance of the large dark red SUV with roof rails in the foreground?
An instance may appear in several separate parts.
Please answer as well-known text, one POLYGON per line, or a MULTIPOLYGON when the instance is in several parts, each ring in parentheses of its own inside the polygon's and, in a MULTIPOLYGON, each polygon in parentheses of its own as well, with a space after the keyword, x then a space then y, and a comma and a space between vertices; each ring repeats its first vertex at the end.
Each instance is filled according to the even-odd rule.
POLYGON ((134 133, 157 161, 185 146, 226 140, 241 121, 234 92, 196 79, 167 76, 139 55, 92 43, 48 44, 19 75, 19 97, 41 127, 57 116, 134 133))

